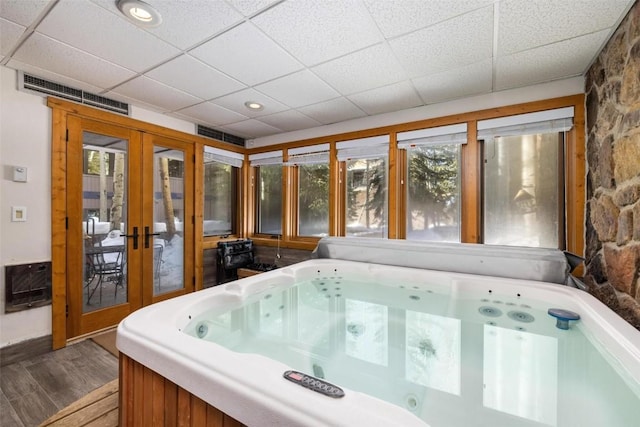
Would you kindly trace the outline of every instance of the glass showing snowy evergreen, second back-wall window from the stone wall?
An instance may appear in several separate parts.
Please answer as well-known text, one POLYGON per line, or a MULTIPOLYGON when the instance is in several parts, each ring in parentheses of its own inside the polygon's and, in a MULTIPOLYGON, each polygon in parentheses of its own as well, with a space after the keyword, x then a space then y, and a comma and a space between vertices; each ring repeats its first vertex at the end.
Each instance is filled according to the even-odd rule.
POLYGON ((407 149, 407 239, 460 241, 460 145, 407 149))

